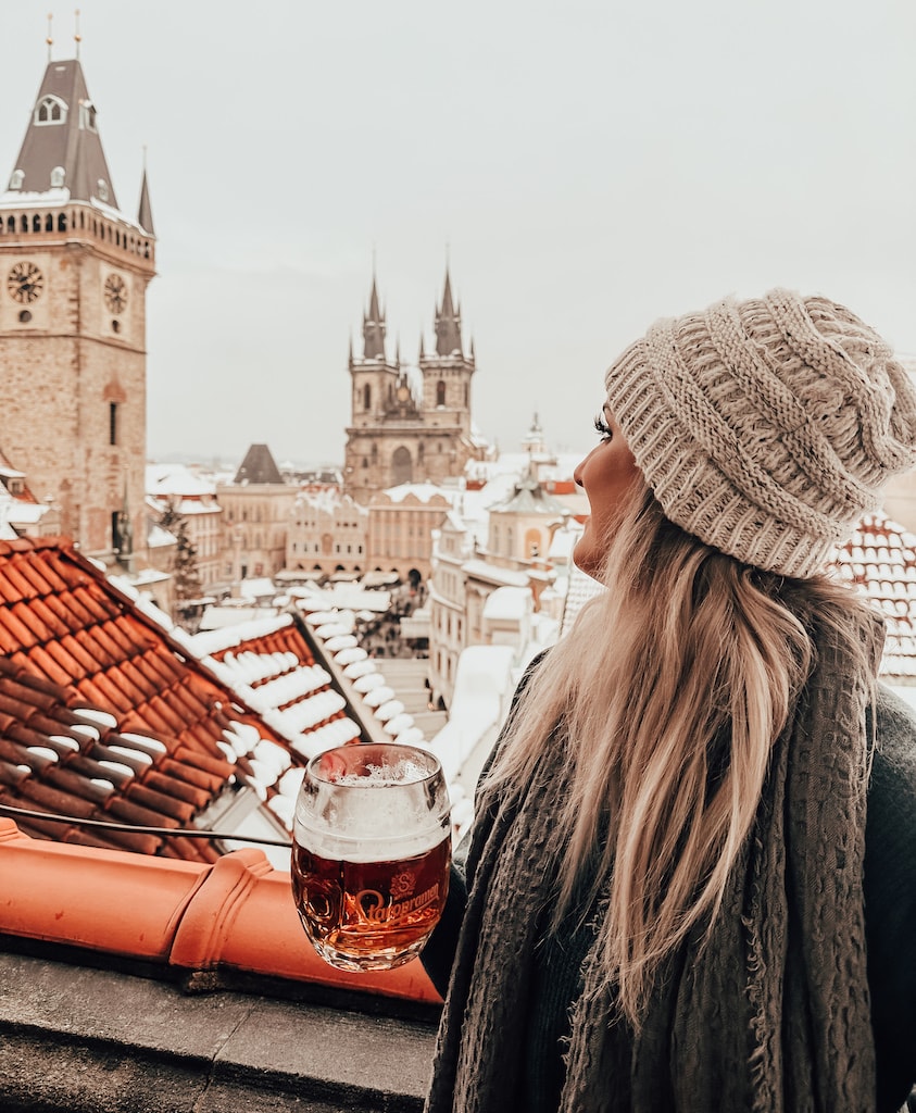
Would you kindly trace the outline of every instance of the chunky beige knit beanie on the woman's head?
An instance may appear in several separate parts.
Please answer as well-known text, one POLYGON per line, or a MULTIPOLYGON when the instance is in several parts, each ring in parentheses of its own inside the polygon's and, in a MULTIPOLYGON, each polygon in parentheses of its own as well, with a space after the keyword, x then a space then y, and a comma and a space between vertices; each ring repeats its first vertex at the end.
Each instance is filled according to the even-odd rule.
POLYGON ((785 575, 823 569, 916 464, 916 387, 825 297, 774 289, 659 321, 605 383, 666 515, 785 575))

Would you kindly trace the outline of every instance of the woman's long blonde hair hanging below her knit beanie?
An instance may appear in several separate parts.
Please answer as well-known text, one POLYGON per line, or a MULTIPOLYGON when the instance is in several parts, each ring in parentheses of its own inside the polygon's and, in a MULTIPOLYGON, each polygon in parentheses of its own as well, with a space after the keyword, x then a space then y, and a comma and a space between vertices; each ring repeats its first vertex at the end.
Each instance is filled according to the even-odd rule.
POLYGON ((787 580, 702 544, 641 480, 624 502, 604 539, 608 590, 539 667, 485 786, 520 791, 555 732, 568 787, 552 928, 613 877, 599 945, 638 1028, 659 963, 720 908, 815 659, 811 617, 860 660, 844 615, 864 604, 826 577, 787 580))

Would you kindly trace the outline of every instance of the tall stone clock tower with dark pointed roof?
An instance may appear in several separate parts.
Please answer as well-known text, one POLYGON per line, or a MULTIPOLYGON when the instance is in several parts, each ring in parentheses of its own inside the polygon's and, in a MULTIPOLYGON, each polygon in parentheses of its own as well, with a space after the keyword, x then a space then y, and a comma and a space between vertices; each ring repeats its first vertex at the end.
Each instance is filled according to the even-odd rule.
POLYGON ((0 191, 0 450, 82 550, 145 536, 146 287, 155 234, 120 208, 78 59, 48 63, 0 191))

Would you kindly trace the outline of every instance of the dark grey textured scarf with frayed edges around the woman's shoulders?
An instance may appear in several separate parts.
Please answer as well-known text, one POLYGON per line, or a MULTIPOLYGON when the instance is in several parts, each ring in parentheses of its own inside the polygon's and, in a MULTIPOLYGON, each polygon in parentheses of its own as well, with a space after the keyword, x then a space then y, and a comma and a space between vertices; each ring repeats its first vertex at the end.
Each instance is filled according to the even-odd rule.
MULTIPOLYGON (((869 619, 861 629, 875 669, 880 626, 869 619)), ((666 964, 638 1037, 615 1018, 592 947, 558 1113, 874 1109, 861 889, 873 684, 874 674, 850 676, 833 640, 820 640, 710 942, 701 947, 698 929, 666 964)), ((524 1041, 536 1023, 532 954, 553 898, 552 801, 563 780, 554 741, 520 797, 479 801, 426 1113, 520 1107, 524 1041)))

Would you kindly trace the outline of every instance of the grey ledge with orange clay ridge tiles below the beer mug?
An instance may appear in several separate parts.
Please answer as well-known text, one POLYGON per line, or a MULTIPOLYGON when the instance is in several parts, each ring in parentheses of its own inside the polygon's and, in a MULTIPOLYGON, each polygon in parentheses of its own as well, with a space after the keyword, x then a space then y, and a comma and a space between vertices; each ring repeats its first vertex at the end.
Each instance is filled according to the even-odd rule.
POLYGON ((289 875, 32 839, 0 819, 3 1113, 418 1111, 441 998, 418 962, 314 953, 289 875))

